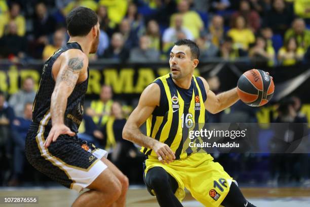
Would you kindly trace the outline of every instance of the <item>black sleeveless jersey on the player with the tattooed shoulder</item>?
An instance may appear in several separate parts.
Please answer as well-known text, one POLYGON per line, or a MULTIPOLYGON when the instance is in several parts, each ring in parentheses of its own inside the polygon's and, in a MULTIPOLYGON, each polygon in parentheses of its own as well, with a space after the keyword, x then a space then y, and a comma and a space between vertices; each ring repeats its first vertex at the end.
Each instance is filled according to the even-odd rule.
MULTIPOLYGON (((56 59, 65 51, 69 49, 80 49, 81 46, 76 43, 67 43, 67 45, 61 47, 55 51, 43 67, 40 85, 36 92, 36 96, 33 102, 32 120, 33 122, 40 123, 45 116, 50 113, 51 96, 54 91, 55 81, 52 74, 52 66, 56 59)), ((87 71, 89 69, 87 68, 87 71)), ((83 105, 85 93, 88 86, 88 77, 82 83, 76 84, 71 95, 67 100, 67 107, 64 113, 64 124, 68 126, 73 132, 78 132, 79 126, 83 118, 83 105)), ((52 121, 47 123, 47 127, 52 126, 52 121)))

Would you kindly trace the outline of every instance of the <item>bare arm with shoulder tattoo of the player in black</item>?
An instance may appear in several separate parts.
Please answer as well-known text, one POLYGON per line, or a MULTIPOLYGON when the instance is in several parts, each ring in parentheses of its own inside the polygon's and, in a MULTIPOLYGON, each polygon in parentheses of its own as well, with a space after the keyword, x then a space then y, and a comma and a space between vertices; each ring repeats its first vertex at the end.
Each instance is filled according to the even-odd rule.
MULTIPOLYGON (((59 71, 56 76, 53 73, 56 83, 51 97, 52 128, 45 141, 45 147, 49 147, 51 142, 55 142, 60 134, 70 136, 75 134, 64 124, 67 99, 76 83, 87 78, 88 58, 81 50, 68 50, 59 58, 60 62, 55 62, 59 66, 59 71)), ((57 68, 53 69, 57 71, 57 68)))

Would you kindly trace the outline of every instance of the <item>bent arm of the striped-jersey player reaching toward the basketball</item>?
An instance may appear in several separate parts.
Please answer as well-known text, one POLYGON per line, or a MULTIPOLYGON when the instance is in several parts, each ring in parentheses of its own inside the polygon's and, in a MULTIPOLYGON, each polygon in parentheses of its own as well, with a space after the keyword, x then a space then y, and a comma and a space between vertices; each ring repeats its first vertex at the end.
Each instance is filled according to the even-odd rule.
POLYGON ((207 81, 199 77, 205 86, 205 90, 207 93, 207 100, 205 101, 205 108, 212 114, 216 114, 224 109, 227 109, 231 105, 234 105, 239 100, 239 96, 237 93, 237 87, 231 90, 222 92, 218 95, 215 95, 214 92, 210 90, 209 84, 207 81))

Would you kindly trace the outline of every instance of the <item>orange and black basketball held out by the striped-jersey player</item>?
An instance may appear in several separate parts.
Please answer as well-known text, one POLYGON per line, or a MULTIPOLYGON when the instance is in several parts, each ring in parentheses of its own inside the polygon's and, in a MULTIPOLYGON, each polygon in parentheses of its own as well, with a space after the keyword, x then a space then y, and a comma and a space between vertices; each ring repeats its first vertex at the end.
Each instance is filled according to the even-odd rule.
POLYGON ((252 69, 239 78, 237 91, 244 103, 251 107, 259 107, 273 97, 275 84, 266 72, 252 69))

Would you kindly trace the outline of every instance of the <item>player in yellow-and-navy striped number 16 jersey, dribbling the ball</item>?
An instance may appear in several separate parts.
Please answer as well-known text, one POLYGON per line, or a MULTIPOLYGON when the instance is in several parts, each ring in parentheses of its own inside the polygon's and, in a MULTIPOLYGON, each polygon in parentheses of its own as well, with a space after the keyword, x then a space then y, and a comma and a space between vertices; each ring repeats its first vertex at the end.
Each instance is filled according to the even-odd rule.
POLYGON ((215 95, 205 79, 193 76, 199 54, 195 42, 175 43, 170 52, 171 73, 145 88, 123 137, 142 146, 144 181, 160 206, 182 206, 186 187, 208 207, 253 207, 210 154, 183 149, 182 136, 188 136, 185 124, 205 123, 206 110, 215 114, 239 100, 236 88, 215 95), (145 121, 147 135, 139 130, 145 121))

